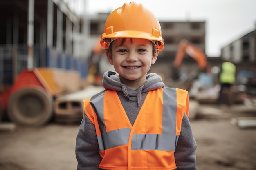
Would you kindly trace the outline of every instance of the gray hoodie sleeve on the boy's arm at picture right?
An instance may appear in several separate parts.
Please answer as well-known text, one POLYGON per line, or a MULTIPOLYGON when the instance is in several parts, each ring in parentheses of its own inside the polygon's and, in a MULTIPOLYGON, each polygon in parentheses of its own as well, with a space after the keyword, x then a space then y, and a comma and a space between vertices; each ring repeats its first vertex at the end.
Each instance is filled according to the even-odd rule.
POLYGON ((196 170, 196 148, 197 144, 192 134, 189 118, 184 114, 180 137, 174 152, 177 170, 196 170))

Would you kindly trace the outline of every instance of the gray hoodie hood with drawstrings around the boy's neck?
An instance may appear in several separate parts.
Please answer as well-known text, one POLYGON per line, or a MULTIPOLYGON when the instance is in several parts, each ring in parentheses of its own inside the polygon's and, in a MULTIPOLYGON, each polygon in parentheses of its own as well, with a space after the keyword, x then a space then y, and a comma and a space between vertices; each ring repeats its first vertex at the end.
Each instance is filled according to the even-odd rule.
POLYGON ((112 71, 107 71, 103 74, 102 85, 105 89, 115 90, 124 94, 124 97, 128 100, 137 100, 138 106, 141 104, 141 93, 148 93, 150 90, 155 90, 164 87, 162 78, 155 74, 150 73, 146 76, 147 82, 141 85, 136 90, 121 83, 119 74, 112 71))

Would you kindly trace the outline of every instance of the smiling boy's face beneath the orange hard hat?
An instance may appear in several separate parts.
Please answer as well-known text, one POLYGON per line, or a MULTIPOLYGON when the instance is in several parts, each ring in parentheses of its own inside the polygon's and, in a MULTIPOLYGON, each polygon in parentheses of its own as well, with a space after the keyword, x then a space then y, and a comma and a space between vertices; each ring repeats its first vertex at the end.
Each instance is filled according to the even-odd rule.
POLYGON ((155 63, 159 50, 153 53, 152 42, 146 39, 127 38, 122 44, 121 41, 119 38, 112 42, 112 54, 106 51, 108 61, 119 73, 121 82, 129 84, 132 81, 141 86, 146 82, 146 74, 155 63))

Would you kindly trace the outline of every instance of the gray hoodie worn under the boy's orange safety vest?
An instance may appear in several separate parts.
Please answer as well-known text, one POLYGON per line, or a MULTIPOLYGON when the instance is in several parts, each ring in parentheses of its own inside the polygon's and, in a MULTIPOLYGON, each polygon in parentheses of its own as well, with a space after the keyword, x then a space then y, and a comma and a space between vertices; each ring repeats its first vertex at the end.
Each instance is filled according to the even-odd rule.
MULTIPOLYGON (((132 125, 148 91, 164 87, 159 75, 150 73, 146 78, 145 84, 133 90, 121 83, 118 73, 108 71, 103 75, 103 87, 117 91, 132 125)), ((180 137, 174 152, 177 170, 196 170, 196 147, 189 119, 184 114, 180 137)), ((76 159, 78 161, 77 170, 99 170, 101 158, 95 127, 86 114, 83 115, 76 138, 76 159)))

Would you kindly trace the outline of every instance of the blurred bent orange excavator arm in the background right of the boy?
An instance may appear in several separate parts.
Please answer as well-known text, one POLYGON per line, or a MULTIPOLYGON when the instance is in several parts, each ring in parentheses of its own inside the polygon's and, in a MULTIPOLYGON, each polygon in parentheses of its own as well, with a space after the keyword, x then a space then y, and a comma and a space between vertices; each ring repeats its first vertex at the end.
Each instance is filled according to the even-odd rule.
POLYGON ((207 56, 204 51, 188 40, 182 39, 178 44, 178 50, 173 62, 173 80, 179 79, 179 69, 185 54, 189 55, 197 62, 200 71, 205 71, 207 68, 207 56))

